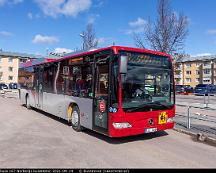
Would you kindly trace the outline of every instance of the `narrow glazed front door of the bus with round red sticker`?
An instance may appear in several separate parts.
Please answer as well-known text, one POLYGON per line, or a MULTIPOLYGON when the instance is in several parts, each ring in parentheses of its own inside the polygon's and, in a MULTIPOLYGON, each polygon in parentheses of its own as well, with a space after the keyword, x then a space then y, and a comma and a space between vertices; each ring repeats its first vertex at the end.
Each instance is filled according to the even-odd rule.
POLYGON ((96 64, 93 129, 108 133, 108 75, 109 65, 96 64))

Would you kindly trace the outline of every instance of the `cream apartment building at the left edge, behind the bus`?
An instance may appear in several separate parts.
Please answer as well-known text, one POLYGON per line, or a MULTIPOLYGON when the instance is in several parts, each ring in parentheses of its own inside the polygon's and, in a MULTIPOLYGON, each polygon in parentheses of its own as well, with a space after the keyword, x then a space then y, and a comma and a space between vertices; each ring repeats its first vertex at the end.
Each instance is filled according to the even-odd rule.
POLYGON ((34 58, 34 55, 0 51, 0 83, 17 83, 19 65, 34 58))

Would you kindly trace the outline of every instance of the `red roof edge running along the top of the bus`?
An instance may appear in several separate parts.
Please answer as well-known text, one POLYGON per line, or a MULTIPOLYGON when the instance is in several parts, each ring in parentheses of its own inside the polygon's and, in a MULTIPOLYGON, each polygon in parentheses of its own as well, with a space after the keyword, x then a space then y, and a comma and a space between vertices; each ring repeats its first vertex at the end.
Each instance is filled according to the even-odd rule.
POLYGON ((118 54, 119 51, 124 50, 124 51, 132 51, 132 52, 140 52, 140 53, 143 52, 143 53, 149 53, 149 54, 155 54, 155 55, 170 57, 169 54, 166 54, 166 53, 163 53, 163 52, 158 52, 158 51, 153 51, 153 50, 148 50, 148 49, 143 49, 143 48, 133 48, 133 47, 126 47, 126 46, 109 46, 109 47, 105 47, 105 48, 93 49, 93 50, 88 50, 88 51, 72 52, 72 53, 66 54, 62 58, 57 58, 57 59, 56 58, 55 59, 44 58, 44 60, 41 61, 41 62, 38 62, 38 63, 26 63, 26 64, 23 64, 22 67, 30 67, 30 66, 42 65, 42 64, 46 64, 46 63, 50 63, 50 62, 58 62, 58 61, 62 61, 62 60, 65 60, 65 59, 70 59, 70 58, 75 58, 75 57, 85 56, 85 55, 91 55, 91 54, 95 54, 95 53, 98 53, 98 52, 101 52, 101 51, 106 51, 106 50, 113 50, 114 54, 118 54))

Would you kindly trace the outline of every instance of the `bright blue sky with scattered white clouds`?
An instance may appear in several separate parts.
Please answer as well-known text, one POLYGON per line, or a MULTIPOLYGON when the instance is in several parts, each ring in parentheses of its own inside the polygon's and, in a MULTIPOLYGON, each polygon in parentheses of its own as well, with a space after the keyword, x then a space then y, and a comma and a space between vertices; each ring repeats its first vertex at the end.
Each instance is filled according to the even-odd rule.
MULTIPOLYGON (((156 19, 157 0, 0 0, 0 48, 45 55, 81 48, 80 33, 92 23, 99 47, 135 47, 141 33, 156 19)), ((171 0, 172 10, 189 19, 184 52, 216 54, 216 1, 171 0)), ((147 47, 149 48, 149 47, 147 47)), ((149 48, 150 49, 150 48, 149 48)))

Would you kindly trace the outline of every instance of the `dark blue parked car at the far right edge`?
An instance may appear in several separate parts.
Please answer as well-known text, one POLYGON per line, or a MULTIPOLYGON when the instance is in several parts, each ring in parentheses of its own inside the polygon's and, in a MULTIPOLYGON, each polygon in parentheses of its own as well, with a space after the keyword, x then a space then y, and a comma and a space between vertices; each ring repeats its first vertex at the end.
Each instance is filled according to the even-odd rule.
POLYGON ((216 86, 212 84, 198 84, 194 93, 195 95, 214 95, 216 94, 216 86))

